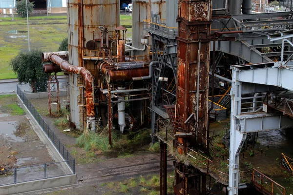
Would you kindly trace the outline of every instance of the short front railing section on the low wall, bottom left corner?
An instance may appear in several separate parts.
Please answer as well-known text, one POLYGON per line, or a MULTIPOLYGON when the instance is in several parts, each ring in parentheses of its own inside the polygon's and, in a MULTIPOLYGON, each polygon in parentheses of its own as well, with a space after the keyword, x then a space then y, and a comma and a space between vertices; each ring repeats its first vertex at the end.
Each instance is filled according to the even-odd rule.
POLYGON ((70 161, 71 162, 53 162, 28 167, 5 169, 0 171, 0 186, 73 175, 73 173, 66 174, 65 170, 62 168, 65 163, 74 164, 74 159, 70 161))

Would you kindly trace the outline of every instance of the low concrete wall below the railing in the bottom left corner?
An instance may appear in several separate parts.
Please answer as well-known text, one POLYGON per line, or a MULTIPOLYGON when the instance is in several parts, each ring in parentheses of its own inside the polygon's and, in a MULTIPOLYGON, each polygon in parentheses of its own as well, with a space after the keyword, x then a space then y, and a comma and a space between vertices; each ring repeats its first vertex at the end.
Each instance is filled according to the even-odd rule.
POLYGON ((49 179, 0 186, 0 195, 12 195, 35 190, 43 190, 46 188, 61 187, 71 184, 76 184, 76 175, 59 176, 49 179))

